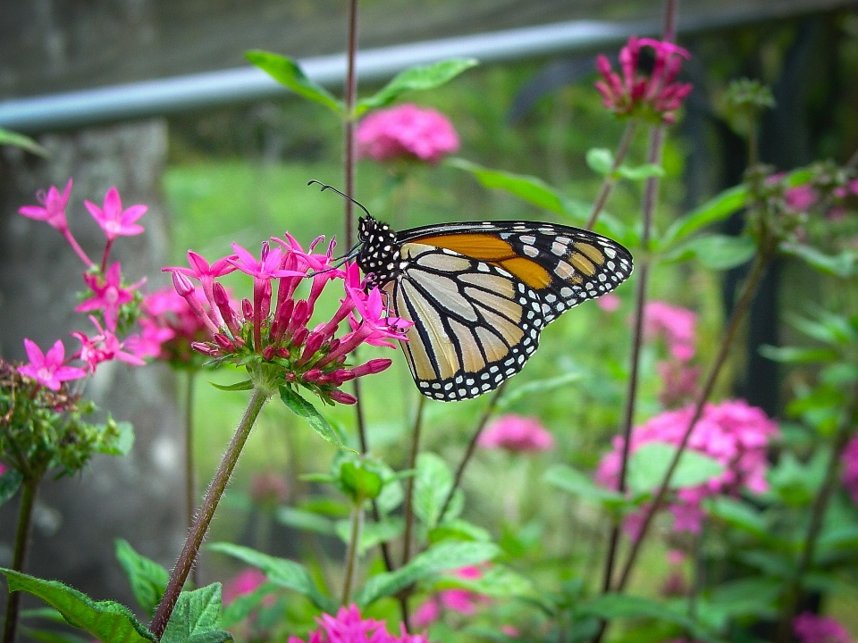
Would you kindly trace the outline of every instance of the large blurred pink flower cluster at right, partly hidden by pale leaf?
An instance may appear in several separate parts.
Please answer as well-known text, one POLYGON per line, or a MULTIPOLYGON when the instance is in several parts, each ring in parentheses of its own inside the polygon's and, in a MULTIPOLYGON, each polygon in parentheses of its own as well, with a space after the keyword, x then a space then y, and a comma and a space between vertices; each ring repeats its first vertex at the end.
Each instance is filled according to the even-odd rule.
MULTIPOLYGON (((678 445, 694 414, 694 406, 676 411, 660 413, 636 426, 632 431, 631 453, 652 442, 678 445)), ((739 489, 762 493, 768 489, 766 471, 769 463, 766 449, 769 441, 778 436, 778 425, 763 411, 748 405, 744 400, 725 400, 720 404, 708 404, 702 418, 694 424, 687 448, 708 455, 724 466, 724 471, 702 485, 678 489, 669 505, 674 516, 676 531, 699 533, 703 510, 701 501, 705 497, 719 494, 735 494, 739 489)), ((596 481, 605 487, 617 489, 623 452, 623 438, 617 436, 612 442, 613 450, 601 458, 596 471, 596 481)), ((632 538, 636 538, 638 520, 633 516, 626 524, 632 538)))

